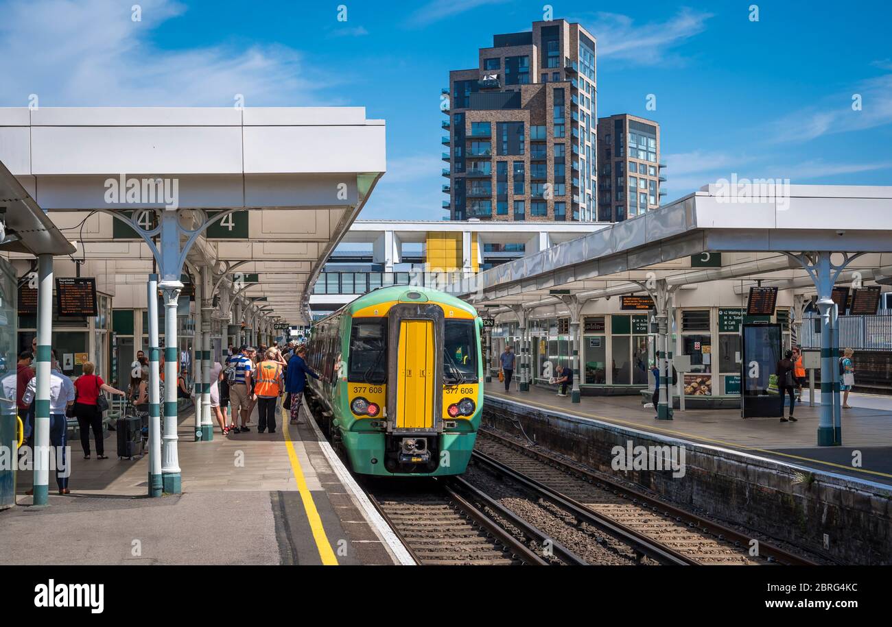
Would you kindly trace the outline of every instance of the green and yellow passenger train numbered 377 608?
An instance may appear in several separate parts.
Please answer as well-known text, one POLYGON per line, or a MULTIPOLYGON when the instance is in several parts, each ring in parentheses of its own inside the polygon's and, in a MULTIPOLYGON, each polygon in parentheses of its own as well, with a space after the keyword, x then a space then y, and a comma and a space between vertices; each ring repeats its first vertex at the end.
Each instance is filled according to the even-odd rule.
POLYGON ((354 472, 460 475, 483 406, 483 321, 410 286, 375 289, 313 325, 308 402, 354 472))

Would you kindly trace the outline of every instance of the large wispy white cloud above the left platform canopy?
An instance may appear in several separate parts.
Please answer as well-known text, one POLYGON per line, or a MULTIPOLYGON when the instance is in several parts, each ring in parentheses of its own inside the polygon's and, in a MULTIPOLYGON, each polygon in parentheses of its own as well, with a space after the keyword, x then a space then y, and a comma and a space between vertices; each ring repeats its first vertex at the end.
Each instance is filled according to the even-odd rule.
POLYGON ((161 50, 155 30, 181 15, 171 0, 36 0, 0 4, 0 104, 246 106, 325 103, 301 53, 281 45, 161 50))

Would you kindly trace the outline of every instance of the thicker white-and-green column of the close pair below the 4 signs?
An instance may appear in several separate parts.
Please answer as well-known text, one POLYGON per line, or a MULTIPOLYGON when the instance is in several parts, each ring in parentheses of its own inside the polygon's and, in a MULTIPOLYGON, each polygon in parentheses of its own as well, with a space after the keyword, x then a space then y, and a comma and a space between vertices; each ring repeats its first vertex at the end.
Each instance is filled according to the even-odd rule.
POLYGON ((183 490, 179 469, 177 436, 177 301, 183 284, 170 281, 164 292, 164 451, 161 480, 164 492, 178 494, 183 490))

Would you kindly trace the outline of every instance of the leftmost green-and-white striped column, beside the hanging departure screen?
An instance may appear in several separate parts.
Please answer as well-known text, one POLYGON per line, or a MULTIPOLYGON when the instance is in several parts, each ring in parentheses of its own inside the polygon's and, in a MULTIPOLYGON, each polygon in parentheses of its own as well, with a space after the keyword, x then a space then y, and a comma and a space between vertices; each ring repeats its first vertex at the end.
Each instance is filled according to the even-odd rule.
MULTIPOLYGON (((49 502, 50 368, 53 346, 53 256, 37 256, 37 394, 34 401, 34 504, 49 502)), ((69 459, 69 463, 70 463, 69 459)))

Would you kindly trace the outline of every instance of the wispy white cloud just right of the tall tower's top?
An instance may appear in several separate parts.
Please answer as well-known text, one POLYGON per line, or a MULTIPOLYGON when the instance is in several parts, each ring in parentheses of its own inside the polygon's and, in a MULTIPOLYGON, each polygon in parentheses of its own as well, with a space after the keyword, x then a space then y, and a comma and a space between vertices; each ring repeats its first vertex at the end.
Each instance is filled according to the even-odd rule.
POLYGON ((594 18, 576 19, 598 40, 599 59, 655 65, 681 61, 672 49, 706 30, 712 13, 681 9, 663 22, 635 24, 627 15, 599 12, 594 18))

